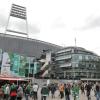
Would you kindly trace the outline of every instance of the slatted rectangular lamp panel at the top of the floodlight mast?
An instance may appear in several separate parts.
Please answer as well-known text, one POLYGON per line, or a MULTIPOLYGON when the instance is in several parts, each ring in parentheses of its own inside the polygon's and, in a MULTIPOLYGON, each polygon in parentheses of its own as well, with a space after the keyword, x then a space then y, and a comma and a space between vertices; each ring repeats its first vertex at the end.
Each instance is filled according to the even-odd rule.
POLYGON ((26 7, 12 4, 10 16, 26 19, 26 7))

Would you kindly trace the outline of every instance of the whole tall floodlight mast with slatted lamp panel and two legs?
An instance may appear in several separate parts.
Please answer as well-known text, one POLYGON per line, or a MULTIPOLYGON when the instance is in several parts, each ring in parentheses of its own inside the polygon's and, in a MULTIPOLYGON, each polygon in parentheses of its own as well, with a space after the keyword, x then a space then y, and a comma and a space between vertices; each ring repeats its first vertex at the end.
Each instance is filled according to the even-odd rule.
POLYGON ((6 25, 6 28, 5 28, 5 34, 7 32, 17 33, 17 34, 20 34, 20 35, 24 35, 28 38, 28 21, 27 21, 27 15, 26 15, 26 7, 19 6, 19 5, 16 5, 16 4, 12 4, 10 14, 9 14, 9 17, 8 17, 8 21, 7 21, 7 25, 6 25), (22 20, 25 20, 25 22, 26 22, 26 32, 20 32, 20 31, 8 29, 10 17, 20 18, 22 20))

